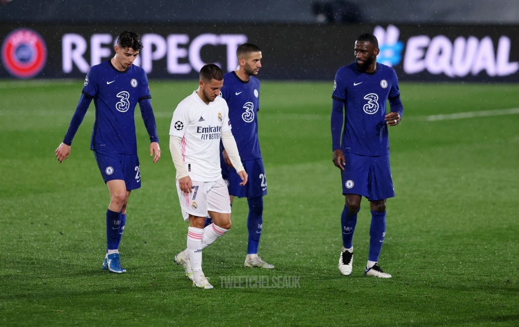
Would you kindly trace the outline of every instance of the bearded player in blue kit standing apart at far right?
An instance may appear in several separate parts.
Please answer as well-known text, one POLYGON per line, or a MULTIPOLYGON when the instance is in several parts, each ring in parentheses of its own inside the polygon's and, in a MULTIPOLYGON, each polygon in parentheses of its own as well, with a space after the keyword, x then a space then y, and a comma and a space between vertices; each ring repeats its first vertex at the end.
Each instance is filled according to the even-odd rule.
POLYGON ((404 108, 397 74, 392 67, 376 62, 378 53, 376 37, 369 33, 360 35, 354 47, 356 62, 339 68, 335 75, 331 117, 333 163, 341 170, 346 200, 341 216, 343 248, 338 268, 343 275, 351 274, 353 232, 364 196, 370 201, 372 216, 364 275, 390 278, 378 265, 386 234, 386 199, 394 196, 388 126, 398 125, 404 108), (388 100, 390 112, 386 114, 388 100))

